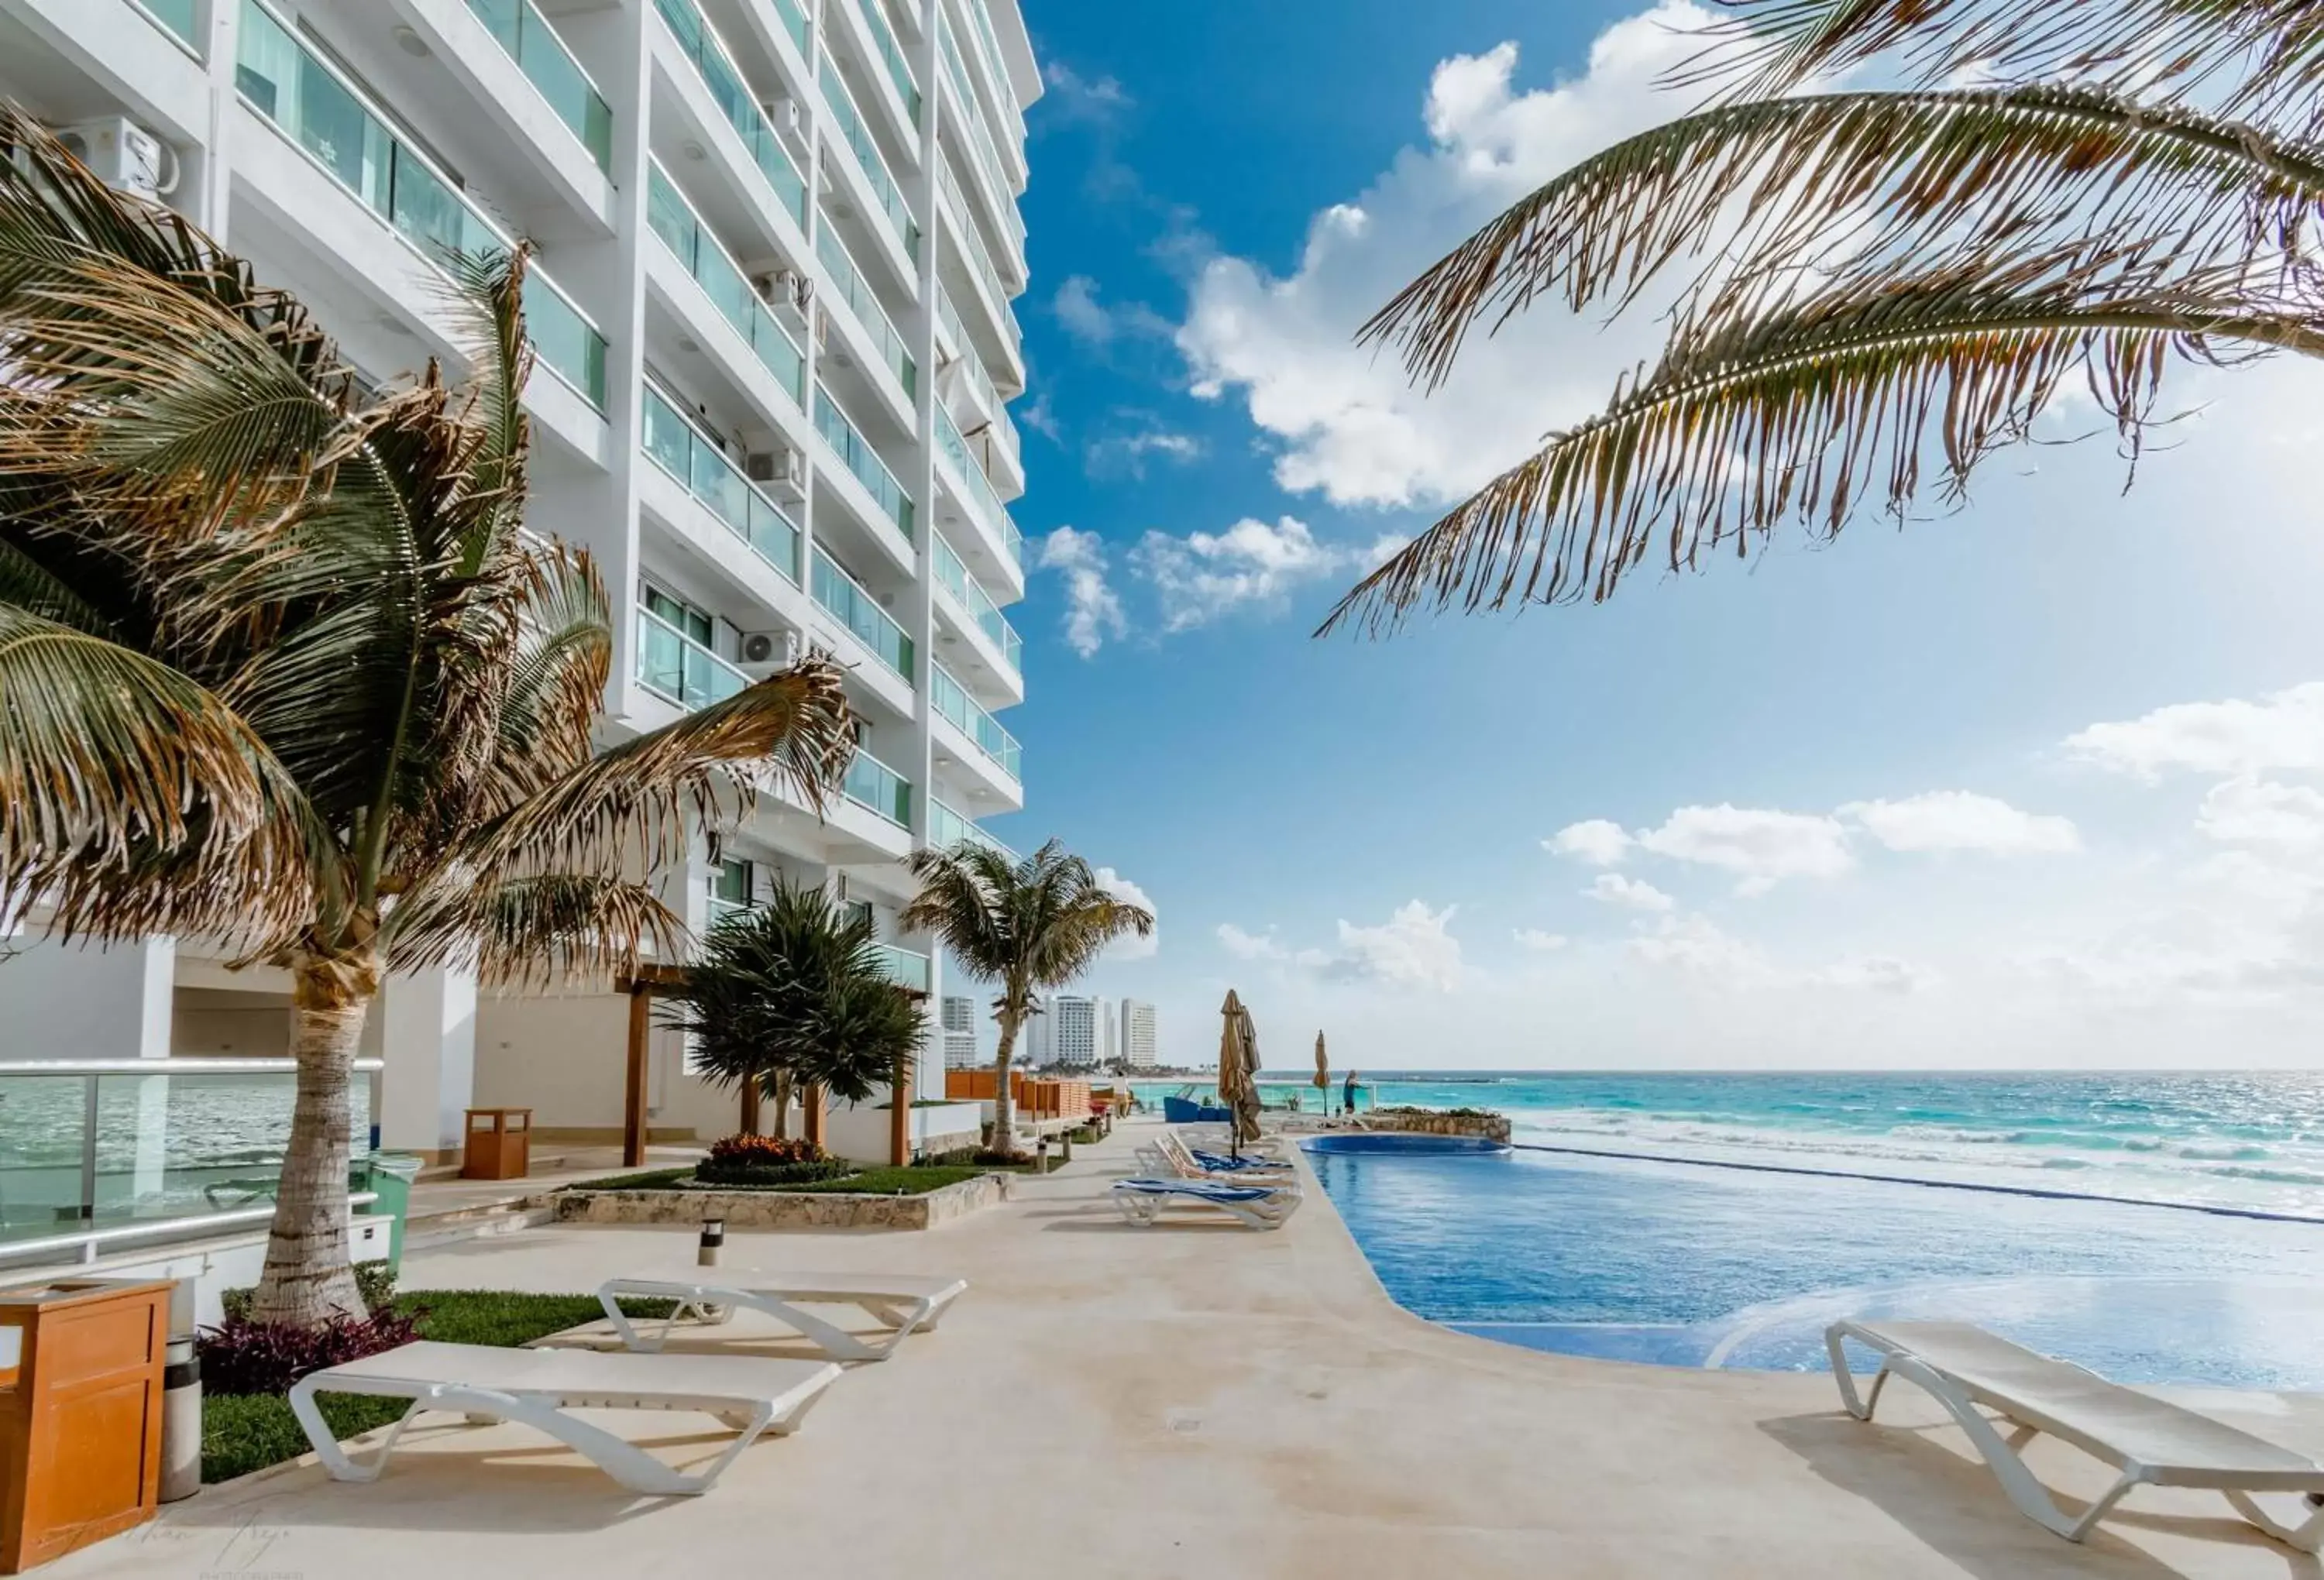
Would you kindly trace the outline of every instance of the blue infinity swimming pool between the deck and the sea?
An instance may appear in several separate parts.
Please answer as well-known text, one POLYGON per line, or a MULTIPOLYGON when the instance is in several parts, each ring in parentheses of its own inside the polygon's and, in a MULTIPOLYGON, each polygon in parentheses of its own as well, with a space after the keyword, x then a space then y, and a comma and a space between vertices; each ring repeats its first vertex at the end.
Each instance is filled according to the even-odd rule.
POLYGON ((1308 1162, 1390 1297, 1483 1338, 1820 1371, 1834 1317, 1959 1317, 2124 1382, 2324 1389, 2324 1224, 1522 1146, 1308 1162))

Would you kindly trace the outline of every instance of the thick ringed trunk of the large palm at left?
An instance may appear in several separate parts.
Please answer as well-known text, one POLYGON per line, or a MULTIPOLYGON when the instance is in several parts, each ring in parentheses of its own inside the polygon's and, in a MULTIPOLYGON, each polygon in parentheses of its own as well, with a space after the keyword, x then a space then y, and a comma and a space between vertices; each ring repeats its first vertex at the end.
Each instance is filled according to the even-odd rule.
POLYGON ((335 1313, 365 1315, 346 1252, 349 1085, 363 1015, 379 992, 379 967, 309 955, 293 967, 293 983, 297 1099, 251 1315, 321 1327, 335 1313))

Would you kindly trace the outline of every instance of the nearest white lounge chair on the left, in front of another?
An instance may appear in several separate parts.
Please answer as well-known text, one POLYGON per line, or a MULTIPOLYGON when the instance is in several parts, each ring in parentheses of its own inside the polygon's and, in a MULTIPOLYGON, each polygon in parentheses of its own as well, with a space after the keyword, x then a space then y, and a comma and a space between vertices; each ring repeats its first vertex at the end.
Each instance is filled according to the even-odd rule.
POLYGON ((407 1343, 360 1362, 300 1378, 290 1413, 335 1480, 370 1482, 423 1410, 453 1410, 472 1422, 521 1422, 558 1438, 630 1492, 648 1496, 709 1492, 760 1434, 788 1436, 839 1380, 832 1362, 746 1355, 600 1355, 593 1350, 502 1350, 469 1343, 407 1343), (316 1408, 316 1394, 409 1399, 367 1464, 356 1464, 316 1408), (700 1410, 737 1429, 734 1443, 706 1471, 674 1471, 646 1450, 567 1410, 700 1410))

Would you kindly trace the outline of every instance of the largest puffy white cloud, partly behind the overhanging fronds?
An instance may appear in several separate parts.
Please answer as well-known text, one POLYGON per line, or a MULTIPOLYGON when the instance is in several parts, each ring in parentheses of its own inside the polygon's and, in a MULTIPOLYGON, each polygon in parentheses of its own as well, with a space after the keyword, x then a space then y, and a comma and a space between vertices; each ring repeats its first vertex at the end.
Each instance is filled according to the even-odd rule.
POLYGON ((1520 91, 1518 46, 1443 60, 1425 102, 1427 144, 1404 149, 1355 202, 1308 223, 1290 276, 1211 258, 1178 349, 1204 397, 1241 395, 1281 441, 1276 481, 1334 504, 1441 504, 1604 407, 1615 376, 1664 337, 1652 302, 1613 325, 1543 304, 1473 337, 1452 379, 1415 390, 1357 328, 1415 274, 1548 177, 1666 121, 1690 100, 1655 88, 1710 23, 1687 0, 1611 26, 1576 81, 1520 91))

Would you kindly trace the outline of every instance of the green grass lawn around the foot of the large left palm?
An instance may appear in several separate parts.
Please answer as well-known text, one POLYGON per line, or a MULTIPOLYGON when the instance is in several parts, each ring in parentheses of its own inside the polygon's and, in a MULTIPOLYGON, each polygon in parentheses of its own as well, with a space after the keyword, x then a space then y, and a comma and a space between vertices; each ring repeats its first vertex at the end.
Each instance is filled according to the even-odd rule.
MULTIPOLYGON (((442 1343, 488 1343, 514 1348, 604 1315, 595 1294, 511 1294, 507 1290, 416 1290, 395 1297, 397 1310, 425 1308, 421 1338, 442 1343)), ((665 1301, 625 1301, 632 1315, 662 1315, 665 1301)), ((344 1441, 386 1427, 404 1413, 404 1399, 321 1394, 323 1420, 344 1441)), ((281 1394, 235 1394, 202 1399, 202 1480, 221 1482, 263 1471, 307 1452, 307 1434, 281 1394)))

